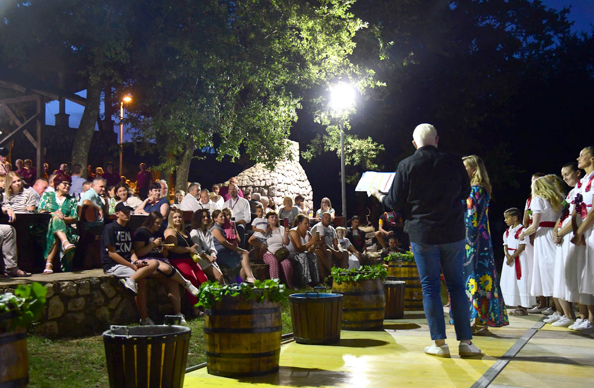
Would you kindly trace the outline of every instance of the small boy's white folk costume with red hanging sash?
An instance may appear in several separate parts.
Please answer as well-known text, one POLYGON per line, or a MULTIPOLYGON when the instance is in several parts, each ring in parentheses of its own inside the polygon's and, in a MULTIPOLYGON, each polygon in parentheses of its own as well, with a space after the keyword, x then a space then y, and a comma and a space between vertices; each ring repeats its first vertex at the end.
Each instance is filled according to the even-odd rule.
MULTIPOLYGON (((520 240, 520 233, 524 230, 522 224, 515 228, 509 227, 503 234, 503 245, 507 246, 507 252, 514 255, 521 245, 525 245, 525 237, 520 240)), ((524 250, 516 259, 513 265, 509 266, 503 262, 501 269, 501 294, 507 306, 522 306, 530 308, 536 304, 536 297, 530 295, 532 285, 532 260, 524 250)))

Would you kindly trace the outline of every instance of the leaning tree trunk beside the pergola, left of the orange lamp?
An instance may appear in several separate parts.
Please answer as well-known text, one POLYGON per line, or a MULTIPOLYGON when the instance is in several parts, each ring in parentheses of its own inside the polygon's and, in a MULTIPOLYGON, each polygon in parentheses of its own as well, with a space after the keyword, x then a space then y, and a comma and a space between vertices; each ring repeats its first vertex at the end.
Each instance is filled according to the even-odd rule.
POLYGON ((95 132, 95 124, 99 115, 99 103, 101 102, 100 82, 87 86, 87 104, 84 107, 83 117, 80 120, 78 131, 74 135, 74 144, 72 144, 72 163, 78 163, 86 171, 87 161, 89 160, 89 150, 91 140, 95 132))

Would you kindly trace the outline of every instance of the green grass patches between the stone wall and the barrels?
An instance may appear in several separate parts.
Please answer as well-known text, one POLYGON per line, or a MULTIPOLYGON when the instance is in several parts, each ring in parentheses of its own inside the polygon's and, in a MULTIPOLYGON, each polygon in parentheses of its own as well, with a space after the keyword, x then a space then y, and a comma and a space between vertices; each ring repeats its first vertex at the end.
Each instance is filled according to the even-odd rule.
MULTIPOLYGON (((305 292, 293 291, 293 292, 305 292)), ((292 292, 292 293, 293 293, 292 292)), ((281 304, 283 334, 291 333, 289 301, 281 304)), ((192 336, 187 367, 206 361, 204 355, 204 319, 188 319, 192 336)), ((30 388, 109 387, 105 350, 101 336, 50 340, 37 336, 27 339, 30 388)))

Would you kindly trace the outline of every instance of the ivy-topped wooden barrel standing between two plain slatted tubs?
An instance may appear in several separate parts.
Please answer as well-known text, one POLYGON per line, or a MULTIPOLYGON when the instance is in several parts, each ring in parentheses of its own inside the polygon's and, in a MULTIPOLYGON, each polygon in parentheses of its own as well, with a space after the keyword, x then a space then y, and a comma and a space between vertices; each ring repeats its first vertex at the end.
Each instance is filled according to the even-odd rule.
POLYGON ((386 298, 380 278, 335 283, 332 291, 345 295, 341 321, 343 330, 383 329, 386 298))

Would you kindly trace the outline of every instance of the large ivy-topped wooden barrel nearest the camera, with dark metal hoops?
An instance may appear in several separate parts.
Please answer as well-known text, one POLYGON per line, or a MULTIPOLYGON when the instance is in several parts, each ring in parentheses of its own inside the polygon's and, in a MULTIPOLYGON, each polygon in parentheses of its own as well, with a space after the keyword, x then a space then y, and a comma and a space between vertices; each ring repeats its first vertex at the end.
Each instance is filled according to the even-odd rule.
POLYGON ((280 304, 225 296, 206 310, 204 339, 208 373, 259 376, 279 370, 280 304))

